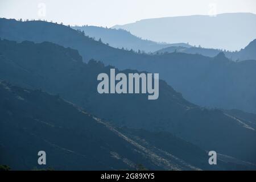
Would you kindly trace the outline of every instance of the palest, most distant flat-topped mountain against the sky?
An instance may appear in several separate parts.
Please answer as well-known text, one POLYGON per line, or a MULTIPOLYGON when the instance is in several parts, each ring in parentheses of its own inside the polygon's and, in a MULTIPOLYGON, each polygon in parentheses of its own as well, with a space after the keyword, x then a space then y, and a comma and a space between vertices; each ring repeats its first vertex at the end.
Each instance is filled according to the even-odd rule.
POLYGON ((225 13, 143 19, 117 25, 143 39, 156 42, 189 42, 192 46, 239 50, 256 38, 256 15, 225 13))

